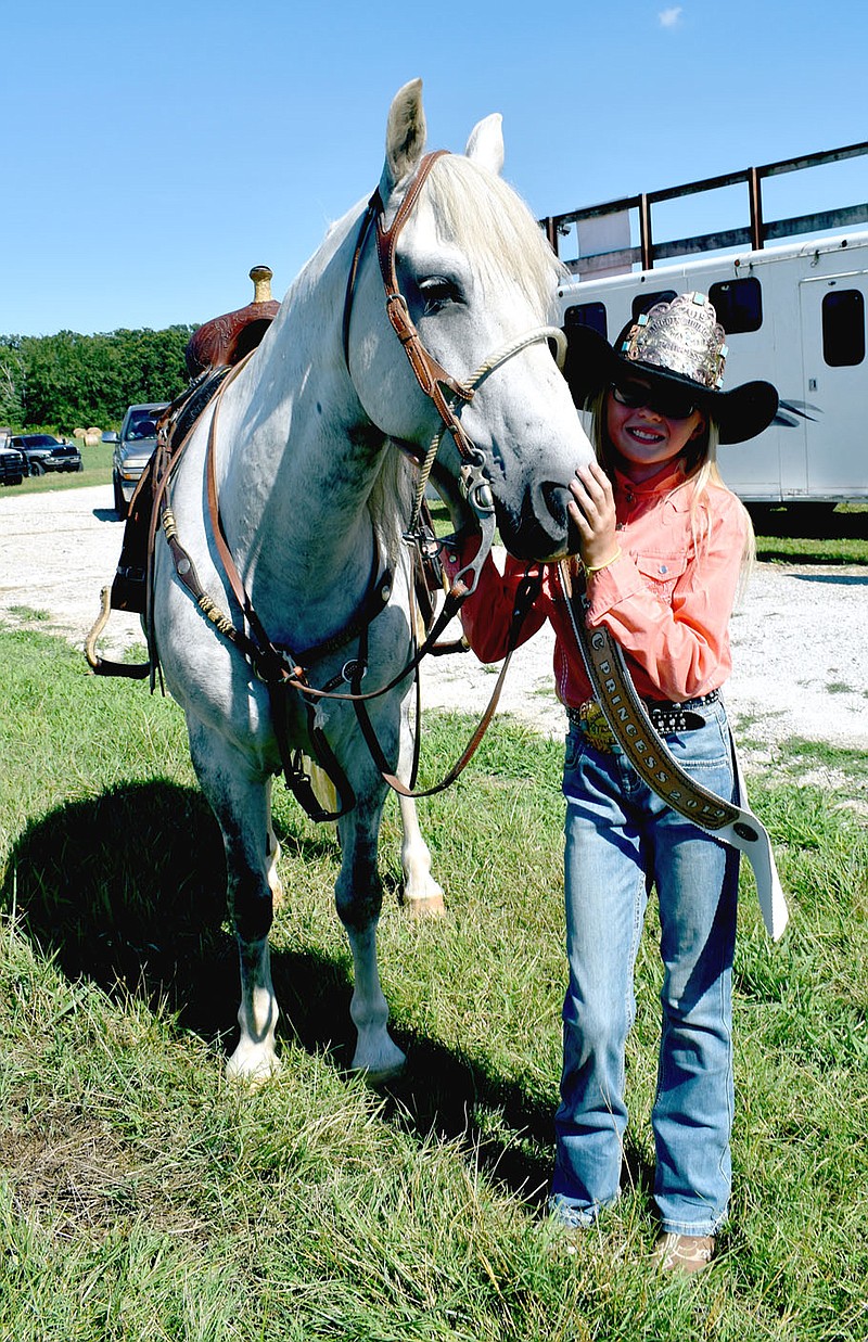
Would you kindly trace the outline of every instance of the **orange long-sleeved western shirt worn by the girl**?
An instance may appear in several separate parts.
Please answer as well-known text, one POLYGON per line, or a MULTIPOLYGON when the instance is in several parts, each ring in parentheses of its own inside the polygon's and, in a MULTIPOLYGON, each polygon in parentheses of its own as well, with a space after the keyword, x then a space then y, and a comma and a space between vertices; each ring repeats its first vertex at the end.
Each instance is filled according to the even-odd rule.
MULTIPOLYGON (((710 484, 691 525, 694 482, 682 463, 665 463, 641 484, 616 472, 621 556, 588 581, 588 628, 604 625, 620 643, 644 699, 684 702, 718 690, 731 670, 728 623, 747 531, 745 510, 727 488, 710 484), (696 537, 695 538, 695 534, 696 537)), ((476 550, 444 553, 455 576, 476 550)), ((531 566, 531 572, 537 566, 531 566)), ((512 599, 526 565, 491 557, 462 607, 467 640, 482 662, 506 655, 512 599)), ((525 620, 525 643, 546 620, 555 632, 558 698, 578 707, 592 688, 570 628, 557 565, 542 565, 542 590, 525 620)))

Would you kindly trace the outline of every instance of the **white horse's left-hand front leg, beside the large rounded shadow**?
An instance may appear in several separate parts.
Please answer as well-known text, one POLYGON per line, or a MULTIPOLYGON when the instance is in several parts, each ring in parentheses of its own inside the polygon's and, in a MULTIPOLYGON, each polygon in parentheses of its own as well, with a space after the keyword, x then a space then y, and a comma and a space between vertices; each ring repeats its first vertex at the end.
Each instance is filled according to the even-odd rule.
POLYGON ((260 1080, 279 1067, 278 1001, 271 982, 268 933, 279 891, 279 847, 271 829, 271 781, 215 733, 189 725, 191 756, 201 789, 223 832, 227 898, 239 947, 241 1000, 229 1076, 260 1080))

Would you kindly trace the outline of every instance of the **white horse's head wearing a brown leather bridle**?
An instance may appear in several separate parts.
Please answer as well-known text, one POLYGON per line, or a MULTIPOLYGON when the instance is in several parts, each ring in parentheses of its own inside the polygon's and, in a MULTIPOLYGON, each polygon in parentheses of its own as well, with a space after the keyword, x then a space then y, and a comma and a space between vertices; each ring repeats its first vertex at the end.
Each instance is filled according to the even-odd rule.
MULTIPOLYGON (((503 542, 518 558, 557 558, 576 548, 567 535, 567 484, 593 454, 545 334, 527 344, 522 337, 553 321, 558 263, 499 176, 499 115, 475 127, 466 156, 439 157, 416 199, 424 141, 421 82, 413 81, 389 111, 380 183, 382 227, 400 220, 393 274, 402 299, 390 305, 389 323, 377 254, 368 247, 353 309, 353 381, 374 424, 416 455, 440 423, 420 386, 428 374, 413 377, 416 350, 427 350, 455 382, 475 381, 470 397, 444 391, 466 435, 464 452, 470 442, 484 460, 503 542), (413 205, 402 217, 405 197, 413 205), (362 305, 368 322, 356 310, 362 305), (409 361, 401 349, 408 338, 409 361), (494 366, 484 370, 488 362, 494 366)), ((447 433, 437 463, 452 498, 460 448, 447 433)))

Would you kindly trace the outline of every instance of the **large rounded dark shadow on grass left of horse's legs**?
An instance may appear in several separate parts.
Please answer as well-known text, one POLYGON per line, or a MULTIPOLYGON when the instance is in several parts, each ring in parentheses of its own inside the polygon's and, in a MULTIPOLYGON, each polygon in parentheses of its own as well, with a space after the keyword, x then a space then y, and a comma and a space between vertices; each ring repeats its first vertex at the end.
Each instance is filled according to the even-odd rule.
POLYGON ((121 786, 34 821, 9 856, 3 903, 70 978, 164 1001, 182 1025, 232 1025, 237 968, 225 867, 204 798, 170 782, 121 786), (235 980, 235 981, 233 981, 235 980))

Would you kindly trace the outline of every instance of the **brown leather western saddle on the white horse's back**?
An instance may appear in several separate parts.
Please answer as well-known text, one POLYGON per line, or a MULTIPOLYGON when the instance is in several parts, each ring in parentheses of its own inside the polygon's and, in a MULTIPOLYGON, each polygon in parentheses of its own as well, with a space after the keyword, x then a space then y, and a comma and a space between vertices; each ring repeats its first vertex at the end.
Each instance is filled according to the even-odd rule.
POLYGON ((189 384, 162 413, 157 424, 157 447, 130 501, 121 558, 109 597, 113 611, 145 615, 154 505, 162 493, 161 484, 225 374, 256 349, 280 306, 271 297, 272 271, 268 266, 254 266, 250 278, 254 301, 213 317, 191 336, 186 345, 184 362, 189 384))

